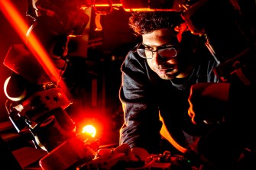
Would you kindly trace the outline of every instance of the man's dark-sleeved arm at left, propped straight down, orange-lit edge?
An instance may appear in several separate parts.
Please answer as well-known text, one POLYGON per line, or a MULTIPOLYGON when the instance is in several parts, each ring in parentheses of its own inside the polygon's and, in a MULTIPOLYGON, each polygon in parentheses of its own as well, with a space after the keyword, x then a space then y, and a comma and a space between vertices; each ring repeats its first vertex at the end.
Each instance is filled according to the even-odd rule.
POLYGON ((145 61, 128 53, 122 65, 122 87, 119 98, 122 101, 125 123, 120 130, 120 144, 131 148, 141 147, 147 152, 160 152, 160 127, 158 108, 154 91, 145 68, 145 61))

